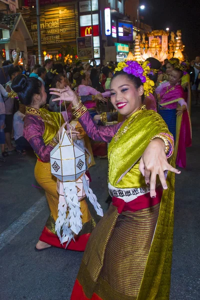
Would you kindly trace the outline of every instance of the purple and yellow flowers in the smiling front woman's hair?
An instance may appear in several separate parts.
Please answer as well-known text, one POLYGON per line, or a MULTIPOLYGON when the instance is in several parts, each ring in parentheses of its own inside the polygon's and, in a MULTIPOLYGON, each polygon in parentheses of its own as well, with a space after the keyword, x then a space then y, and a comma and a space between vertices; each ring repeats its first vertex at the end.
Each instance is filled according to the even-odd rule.
POLYGON ((144 61, 142 64, 135 60, 128 60, 126 62, 121 61, 117 64, 115 72, 121 70, 127 74, 132 74, 133 76, 140 78, 143 83, 145 96, 148 96, 149 93, 153 93, 154 82, 148 77, 148 74, 151 73, 149 61, 144 61))

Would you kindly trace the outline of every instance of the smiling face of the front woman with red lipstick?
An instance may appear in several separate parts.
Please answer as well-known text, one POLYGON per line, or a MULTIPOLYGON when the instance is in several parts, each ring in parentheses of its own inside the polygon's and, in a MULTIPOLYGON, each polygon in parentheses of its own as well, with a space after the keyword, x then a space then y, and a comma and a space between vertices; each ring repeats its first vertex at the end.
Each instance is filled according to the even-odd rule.
POLYGON ((143 85, 138 88, 128 80, 126 75, 112 78, 110 85, 111 103, 120 114, 129 117, 141 106, 143 85))

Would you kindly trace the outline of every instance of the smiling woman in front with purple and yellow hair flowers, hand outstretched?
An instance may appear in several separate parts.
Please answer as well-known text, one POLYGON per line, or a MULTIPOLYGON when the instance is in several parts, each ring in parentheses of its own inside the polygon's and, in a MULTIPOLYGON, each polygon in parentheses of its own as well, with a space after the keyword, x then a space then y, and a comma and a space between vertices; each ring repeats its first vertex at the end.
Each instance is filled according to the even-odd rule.
POLYGON ((143 92, 153 85, 145 70, 136 61, 117 67, 111 102, 126 119, 115 125, 97 126, 70 88, 54 90, 76 105, 74 115, 91 138, 111 141, 112 203, 87 242, 71 300, 169 299, 174 172, 179 171, 174 161, 167 162, 173 137, 165 122, 142 105, 143 92))

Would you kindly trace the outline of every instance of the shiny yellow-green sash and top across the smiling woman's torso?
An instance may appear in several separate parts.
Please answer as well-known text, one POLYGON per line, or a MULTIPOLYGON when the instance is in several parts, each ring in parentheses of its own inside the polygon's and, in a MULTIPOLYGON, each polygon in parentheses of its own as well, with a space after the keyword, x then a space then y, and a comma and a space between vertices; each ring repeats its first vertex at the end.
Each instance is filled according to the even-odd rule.
POLYGON ((109 182, 119 188, 145 186, 145 180, 138 169, 139 158, 151 137, 169 133, 162 117, 146 110, 142 105, 127 118, 112 138, 108 148, 109 182))

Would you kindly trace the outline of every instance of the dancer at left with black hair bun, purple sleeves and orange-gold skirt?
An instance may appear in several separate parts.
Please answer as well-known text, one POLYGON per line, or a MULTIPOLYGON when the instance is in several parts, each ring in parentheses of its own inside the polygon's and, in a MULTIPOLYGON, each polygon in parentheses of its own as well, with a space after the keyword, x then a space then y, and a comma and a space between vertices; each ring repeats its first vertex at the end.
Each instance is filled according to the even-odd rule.
MULTIPOLYGON (((62 131, 62 129, 59 130, 60 126, 63 128, 66 124, 66 118, 70 121, 72 113, 70 111, 67 111, 67 113, 66 111, 62 113, 50 112, 40 108, 46 103, 46 92, 41 82, 36 78, 26 78, 24 75, 18 75, 12 82, 12 89, 17 92, 19 100, 26 105, 23 135, 37 156, 34 169, 35 179, 45 190, 50 208, 50 216, 42 230, 35 250, 41 251, 50 246, 65 248, 66 242, 61 244, 55 232, 59 195, 56 188, 56 178, 51 174, 50 151, 58 143, 58 131, 62 131)), ((80 210, 82 213, 82 230, 75 236, 75 241, 70 241, 67 246, 67 249, 75 251, 84 251, 89 235, 95 225, 84 198, 80 200, 80 210)))

